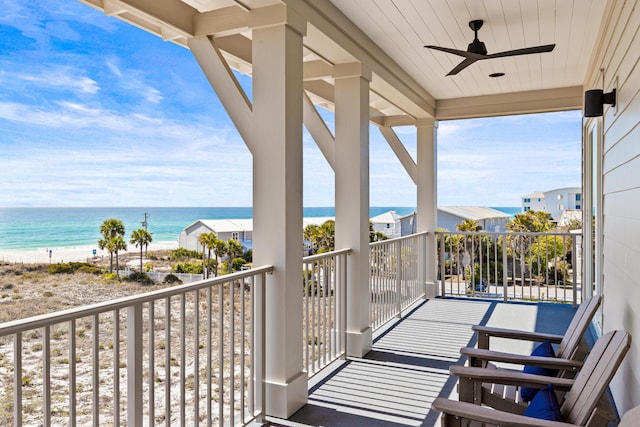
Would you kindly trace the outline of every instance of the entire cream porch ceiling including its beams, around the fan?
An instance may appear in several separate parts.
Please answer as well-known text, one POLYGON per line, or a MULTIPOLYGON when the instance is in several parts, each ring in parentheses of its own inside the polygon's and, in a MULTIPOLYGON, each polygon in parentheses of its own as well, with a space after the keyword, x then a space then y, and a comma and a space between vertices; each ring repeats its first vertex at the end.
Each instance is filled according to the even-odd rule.
POLYGON ((607 4, 618 0, 80 0, 186 46, 213 36, 229 65, 251 74, 250 16, 290 6, 307 18, 305 89, 332 108, 332 67, 361 62, 373 73, 371 117, 381 125, 580 108, 607 4), (264 9, 262 9, 264 10, 264 9), (553 52, 478 61, 424 48, 466 50, 469 21, 488 53, 555 43, 553 52), (505 73, 498 78, 492 73, 505 73))

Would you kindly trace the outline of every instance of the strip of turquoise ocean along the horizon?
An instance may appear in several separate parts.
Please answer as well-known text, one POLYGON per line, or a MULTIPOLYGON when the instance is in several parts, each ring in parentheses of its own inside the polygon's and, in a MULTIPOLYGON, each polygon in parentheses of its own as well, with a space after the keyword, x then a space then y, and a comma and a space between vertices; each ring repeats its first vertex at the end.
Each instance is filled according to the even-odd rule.
MULTIPOLYGON (((389 210, 406 215, 413 207, 372 207, 370 216, 389 210)), ((250 207, 218 208, 0 208, 0 250, 33 250, 51 247, 96 245, 100 225, 116 218, 123 222, 126 239, 142 227, 147 214, 147 229, 154 243, 177 242, 180 232, 199 219, 248 219, 250 207)), ((304 208, 305 217, 335 216, 333 207, 304 208)))

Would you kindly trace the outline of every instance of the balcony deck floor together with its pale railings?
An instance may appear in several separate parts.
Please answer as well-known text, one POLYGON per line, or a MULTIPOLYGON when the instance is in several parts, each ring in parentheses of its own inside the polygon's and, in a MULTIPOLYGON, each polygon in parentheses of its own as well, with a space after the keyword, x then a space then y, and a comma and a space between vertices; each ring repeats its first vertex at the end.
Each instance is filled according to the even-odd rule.
MULTIPOLYGON (((506 304, 516 299, 517 292, 500 294, 495 284, 488 285, 495 289, 476 290, 473 277, 453 273, 455 265, 447 273, 441 262, 440 272, 445 269, 442 298, 426 300, 423 260, 428 237, 419 233, 371 244, 369 322, 374 340, 372 351, 362 358, 346 356, 346 271, 351 251, 304 259, 301 344, 303 369, 310 376, 309 400, 290 420, 270 418, 268 422, 434 425, 438 415, 430 410, 430 403, 454 392, 456 380, 449 377, 448 368, 464 363, 458 351, 474 344, 471 325, 564 332, 574 304, 506 304), (456 287, 448 285, 454 283, 456 287), (451 289, 456 291, 447 292, 451 289), (496 296, 497 300, 489 299, 496 296)), ((540 242, 548 237, 527 239, 540 242)), ((486 240, 483 233, 466 233, 464 239, 470 246, 463 242, 458 254, 498 254, 497 242, 504 245, 501 256, 508 252, 506 236, 486 240), (486 246, 489 241, 494 242, 491 250, 486 246), (476 244, 479 251, 469 249, 476 244)), ((441 242, 447 240, 455 239, 440 235, 441 242)), ((577 247, 568 236, 560 241, 568 242, 561 249, 577 247)), ((441 244, 438 258, 445 260, 447 253, 453 253, 451 246, 441 244)), ((523 259, 548 264, 539 248, 532 253, 537 255, 522 255, 523 259)), ((558 257, 553 252, 551 258, 558 257)), ((481 265, 477 268, 480 283, 483 278, 486 283, 495 281, 498 268, 495 260, 488 259, 471 256, 465 266, 474 271, 482 262, 493 265, 493 273, 481 265)), ((5 384, 0 399, 11 414, 3 422, 260 422, 266 407, 266 277, 272 271, 271 266, 258 267, 0 325, 0 377, 5 384)), ((500 271, 503 290, 525 289, 517 284, 518 277, 508 275, 508 269, 500 271)), ((534 276, 531 271, 520 274, 520 279, 528 280, 529 293, 521 295, 524 299, 560 299, 531 298, 553 286, 542 280, 544 275, 534 276)), ((573 299, 565 301, 576 302, 577 286, 572 289, 563 295, 573 299)), ((531 348, 504 350, 529 352, 531 348)))

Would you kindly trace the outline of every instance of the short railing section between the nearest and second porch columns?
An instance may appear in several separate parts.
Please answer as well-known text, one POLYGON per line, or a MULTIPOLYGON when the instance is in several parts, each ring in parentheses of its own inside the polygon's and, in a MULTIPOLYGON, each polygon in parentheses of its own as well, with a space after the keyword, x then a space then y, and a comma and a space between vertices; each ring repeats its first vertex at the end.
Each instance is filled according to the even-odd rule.
POLYGON ((344 356, 350 249, 303 260, 303 357, 309 376, 344 356))

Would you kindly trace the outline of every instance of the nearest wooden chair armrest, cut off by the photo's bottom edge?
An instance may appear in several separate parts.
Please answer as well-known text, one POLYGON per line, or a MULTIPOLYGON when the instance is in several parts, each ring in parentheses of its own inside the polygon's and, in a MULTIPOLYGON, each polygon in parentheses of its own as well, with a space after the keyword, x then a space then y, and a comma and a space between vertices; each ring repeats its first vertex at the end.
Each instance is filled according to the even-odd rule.
MULTIPOLYGON (((457 402, 455 400, 438 397, 431 405, 436 411, 452 415, 454 417, 476 420, 487 424, 497 424, 508 427, 575 427, 576 424, 558 421, 540 420, 525 417, 524 415, 511 414, 509 412, 496 411, 491 408, 474 405, 472 403, 457 402)), ((444 424, 443 424, 444 425, 444 424)))

